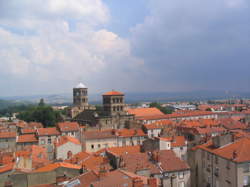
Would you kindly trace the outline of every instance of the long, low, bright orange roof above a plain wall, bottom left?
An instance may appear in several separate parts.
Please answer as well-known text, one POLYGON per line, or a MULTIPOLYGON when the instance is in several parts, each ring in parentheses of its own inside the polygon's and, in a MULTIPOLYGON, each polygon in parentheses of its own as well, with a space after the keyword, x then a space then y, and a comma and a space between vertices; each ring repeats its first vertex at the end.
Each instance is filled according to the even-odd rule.
POLYGON ((70 163, 66 163, 66 162, 57 162, 57 163, 52 163, 52 164, 48 164, 44 167, 38 168, 37 170, 35 170, 34 172, 47 172, 47 171, 53 171, 57 168, 71 168, 71 169, 81 169, 80 166, 78 165, 74 165, 74 164, 70 164, 70 163))

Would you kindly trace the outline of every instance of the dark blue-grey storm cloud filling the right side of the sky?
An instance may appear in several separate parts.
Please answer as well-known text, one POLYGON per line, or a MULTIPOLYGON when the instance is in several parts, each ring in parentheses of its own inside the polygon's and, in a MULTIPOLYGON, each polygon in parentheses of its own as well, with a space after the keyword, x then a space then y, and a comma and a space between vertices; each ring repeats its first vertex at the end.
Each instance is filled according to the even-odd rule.
POLYGON ((249 90, 248 1, 152 1, 132 29, 135 55, 169 90, 249 90))

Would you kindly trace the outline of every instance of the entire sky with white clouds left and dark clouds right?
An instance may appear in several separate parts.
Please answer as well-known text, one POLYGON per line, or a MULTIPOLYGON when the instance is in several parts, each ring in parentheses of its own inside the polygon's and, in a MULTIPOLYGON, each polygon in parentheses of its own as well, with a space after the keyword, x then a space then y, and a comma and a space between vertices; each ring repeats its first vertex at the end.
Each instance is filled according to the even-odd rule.
POLYGON ((0 0, 0 96, 250 91, 249 0, 0 0))

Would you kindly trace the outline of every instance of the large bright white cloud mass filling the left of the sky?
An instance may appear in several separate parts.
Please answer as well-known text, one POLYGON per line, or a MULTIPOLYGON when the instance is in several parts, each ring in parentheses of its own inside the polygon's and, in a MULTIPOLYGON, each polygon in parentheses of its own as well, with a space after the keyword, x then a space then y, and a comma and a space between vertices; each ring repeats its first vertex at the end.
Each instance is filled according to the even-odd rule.
POLYGON ((101 83, 106 76, 122 76, 123 67, 143 65, 131 55, 129 41, 103 27, 110 15, 101 0, 1 3, 0 76, 10 75, 16 84, 20 77, 33 83, 65 83, 64 90, 54 90, 57 92, 80 80, 94 80, 92 86, 97 89, 107 86, 101 83))

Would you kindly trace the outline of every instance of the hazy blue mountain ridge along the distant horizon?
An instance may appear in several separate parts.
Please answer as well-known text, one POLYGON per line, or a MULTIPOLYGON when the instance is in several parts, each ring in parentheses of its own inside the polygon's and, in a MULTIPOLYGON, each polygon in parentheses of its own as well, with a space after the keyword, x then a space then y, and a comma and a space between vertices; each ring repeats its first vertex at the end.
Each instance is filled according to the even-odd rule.
MULTIPOLYGON (((43 98, 49 104, 71 104, 72 93, 34 95, 34 96, 15 96, 0 97, 0 99, 11 102, 32 102, 38 103, 43 98)), ((197 100, 215 100, 215 99, 240 99, 250 98, 250 92, 222 92, 222 91, 194 91, 194 92, 152 92, 152 93, 132 93, 125 92, 127 103, 136 102, 168 102, 168 101, 197 101, 197 100)), ((102 102, 101 94, 89 94, 91 104, 100 104, 102 102)), ((0 103, 1 105, 1 103, 0 103)))

